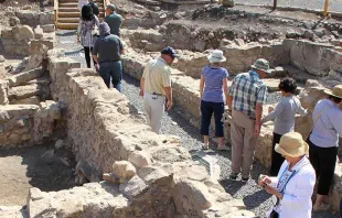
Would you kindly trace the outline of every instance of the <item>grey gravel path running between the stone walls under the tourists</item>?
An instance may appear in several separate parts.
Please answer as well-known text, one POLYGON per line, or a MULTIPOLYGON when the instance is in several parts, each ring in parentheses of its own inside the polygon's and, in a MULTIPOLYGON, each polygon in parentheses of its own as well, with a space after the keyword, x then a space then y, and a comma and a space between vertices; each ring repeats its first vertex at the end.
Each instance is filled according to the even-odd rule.
MULTIPOLYGON (((60 32, 65 33, 65 32, 60 32)), ((64 34, 56 37, 57 47, 66 48, 67 56, 71 56, 85 66, 85 59, 82 56, 81 46, 75 45, 75 35, 64 34), (64 42, 64 43, 61 43, 64 42), (70 43, 65 43, 70 42, 70 43)), ((142 99, 138 96, 139 81, 128 75, 124 75, 122 92, 128 97, 130 102, 140 111, 143 111, 142 99)), ((201 152, 202 137, 199 130, 190 124, 190 122, 180 116, 181 111, 175 107, 162 119, 161 133, 174 134, 180 137, 181 144, 186 148, 190 153, 201 152)), ((270 196, 263 190, 256 179, 260 173, 266 174, 267 170, 261 164, 255 163, 252 172, 252 179, 248 183, 241 181, 227 179, 231 172, 231 152, 218 152, 212 145, 212 150, 206 152, 217 160, 221 166, 221 184, 235 198, 242 198, 247 206, 247 209, 253 210, 256 215, 263 217, 265 211, 271 206, 270 196)), ((313 218, 333 218, 330 212, 314 214, 313 218)), ((335 217, 336 218, 336 217, 335 217)))

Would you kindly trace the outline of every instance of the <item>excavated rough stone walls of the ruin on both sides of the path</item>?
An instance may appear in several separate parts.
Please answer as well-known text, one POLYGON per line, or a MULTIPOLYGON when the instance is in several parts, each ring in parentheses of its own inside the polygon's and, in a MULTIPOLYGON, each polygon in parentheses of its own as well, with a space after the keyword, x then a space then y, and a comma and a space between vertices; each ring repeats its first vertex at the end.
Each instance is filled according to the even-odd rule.
MULTIPOLYGON (((2 42, 3 46, 15 45, 8 51, 31 56, 23 61, 24 67, 0 79, 0 146, 40 144, 60 129, 66 130, 65 143, 77 161, 75 179, 83 186, 49 193, 31 188, 26 208, 0 206, 3 217, 20 217, 22 210, 29 217, 255 217, 242 199, 225 193, 217 175, 193 161, 178 137, 153 133, 125 96, 107 89, 96 72, 81 68, 63 50, 53 48, 49 28, 36 29, 41 28, 15 25, 2 31, 4 42, 12 40, 2 42), (30 37, 15 36, 22 31, 30 37), (28 42, 29 47, 23 46, 28 42)), ((331 45, 288 39, 246 43, 231 34, 172 22, 158 31, 124 30, 124 70, 140 79, 145 64, 161 47, 182 48, 172 69, 173 95, 180 115, 194 127, 200 124, 199 76, 211 47, 224 51, 231 76, 247 70, 258 57, 269 59, 274 67, 266 79, 269 91, 278 91, 280 77, 292 76, 302 84, 298 97, 310 112, 324 97, 323 88, 342 83, 342 42, 331 45)), ((277 99, 265 106, 265 115, 277 99)), ((296 118, 296 131, 303 138, 311 124, 310 115, 296 118)), ((256 159, 265 166, 270 164, 271 139, 272 123, 268 122, 256 150, 256 159)), ((341 196, 342 172, 336 165, 330 193, 335 210, 341 196)))

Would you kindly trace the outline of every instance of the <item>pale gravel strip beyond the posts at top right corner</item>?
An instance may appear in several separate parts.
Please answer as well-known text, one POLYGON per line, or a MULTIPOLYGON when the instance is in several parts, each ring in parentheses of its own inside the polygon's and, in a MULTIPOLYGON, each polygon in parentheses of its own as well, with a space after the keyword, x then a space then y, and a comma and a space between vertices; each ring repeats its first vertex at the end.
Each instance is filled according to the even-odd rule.
MULTIPOLYGON (((235 2, 274 6, 274 0, 235 0, 235 2)), ((278 0, 278 6, 323 10, 324 0, 278 0)), ((330 0, 328 10, 342 12, 342 0, 330 0)))

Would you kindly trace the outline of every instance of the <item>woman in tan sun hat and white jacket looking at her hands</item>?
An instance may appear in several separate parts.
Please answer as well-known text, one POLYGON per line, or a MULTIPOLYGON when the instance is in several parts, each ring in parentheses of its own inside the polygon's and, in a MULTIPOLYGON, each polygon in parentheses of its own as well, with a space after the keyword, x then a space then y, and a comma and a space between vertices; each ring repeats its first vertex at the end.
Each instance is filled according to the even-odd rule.
POLYGON ((289 132, 280 138, 275 151, 286 160, 278 176, 261 174, 258 181, 272 195, 274 206, 266 212, 267 218, 310 218, 316 174, 306 156, 309 145, 300 133, 289 132))

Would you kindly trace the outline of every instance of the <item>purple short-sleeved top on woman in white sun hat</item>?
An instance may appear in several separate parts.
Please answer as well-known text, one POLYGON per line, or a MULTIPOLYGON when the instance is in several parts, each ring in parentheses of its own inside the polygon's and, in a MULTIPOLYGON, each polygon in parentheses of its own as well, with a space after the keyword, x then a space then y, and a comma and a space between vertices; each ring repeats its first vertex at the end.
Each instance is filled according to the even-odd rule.
POLYGON ((228 77, 228 72, 223 67, 214 68, 211 66, 205 66, 202 69, 202 75, 204 78, 202 100, 224 102, 222 79, 228 77))

